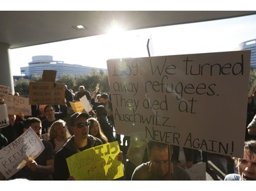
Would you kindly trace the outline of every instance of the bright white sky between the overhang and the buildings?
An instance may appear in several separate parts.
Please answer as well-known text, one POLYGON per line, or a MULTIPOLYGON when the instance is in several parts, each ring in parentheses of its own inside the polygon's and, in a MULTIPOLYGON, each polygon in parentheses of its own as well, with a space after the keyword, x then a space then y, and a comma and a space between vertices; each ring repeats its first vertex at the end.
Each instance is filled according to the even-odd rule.
POLYGON ((98 35, 10 50, 12 75, 28 66, 32 56, 51 55, 53 60, 106 68, 106 60, 145 57, 152 37, 154 56, 238 50, 243 41, 256 39, 256 15, 179 24, 137 31, 98 35))

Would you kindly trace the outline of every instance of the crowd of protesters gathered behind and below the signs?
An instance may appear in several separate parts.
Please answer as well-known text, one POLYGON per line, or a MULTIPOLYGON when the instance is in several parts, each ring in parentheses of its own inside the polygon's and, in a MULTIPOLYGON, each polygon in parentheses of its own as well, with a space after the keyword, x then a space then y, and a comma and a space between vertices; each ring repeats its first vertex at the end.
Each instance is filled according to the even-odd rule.
MULTIPOLYGON (((15 93, 19 96, 18 92, 15 93)), ((0 104, 4 100, 0 99, 0 104)), ((190 180, 185 171, 200 159, 208 166, 207 153, 177 145, 148 141, 139 137, 123 136, 115 132, 111 97, 106 92, 89 92, 85 86, 73 93, 66 86, 65 99, 60 105, 31 105, 32 115, 8 115, 10 124, 0 128, 0 148, 12 143, 29 127, 42 139, 44 151, 28 160, 26 166, 10 179, 73 180, 66 158, 96 145, 118 141, 119 160, 124 163, 123 180, 173 179, 190 180), (86 97, 92 110, 74 112, 71 101, 86 97)), ((256 98, 248 98, 247 121, 244 125, 243 158, 227 157, 229 165, 224 180, 256 179, 256 98), (235 173, 235 172, 238 173, 235 173)), ((5 179, 0 173, 0 179, 5 179)))

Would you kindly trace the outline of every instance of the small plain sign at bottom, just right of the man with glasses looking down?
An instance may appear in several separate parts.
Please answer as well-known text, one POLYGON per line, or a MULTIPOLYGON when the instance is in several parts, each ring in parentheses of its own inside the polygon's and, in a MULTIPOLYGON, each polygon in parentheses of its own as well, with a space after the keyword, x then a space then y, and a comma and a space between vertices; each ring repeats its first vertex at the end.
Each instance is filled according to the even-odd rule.
POLYGON ((193 164, 190 169, 185 169, 190 175, 191 180, 205 180, 206 179, 206 163, 193 164))

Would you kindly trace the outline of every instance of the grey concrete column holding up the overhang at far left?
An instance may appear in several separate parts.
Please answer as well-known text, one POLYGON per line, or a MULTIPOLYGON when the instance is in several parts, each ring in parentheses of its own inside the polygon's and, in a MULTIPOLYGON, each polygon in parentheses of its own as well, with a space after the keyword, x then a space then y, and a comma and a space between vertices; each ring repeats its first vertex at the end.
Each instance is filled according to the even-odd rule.
POLYGON ((0 42, 0 85, 10 87, 9 92, 14 93, 14 80, 9 59, 8 44, 0 42))

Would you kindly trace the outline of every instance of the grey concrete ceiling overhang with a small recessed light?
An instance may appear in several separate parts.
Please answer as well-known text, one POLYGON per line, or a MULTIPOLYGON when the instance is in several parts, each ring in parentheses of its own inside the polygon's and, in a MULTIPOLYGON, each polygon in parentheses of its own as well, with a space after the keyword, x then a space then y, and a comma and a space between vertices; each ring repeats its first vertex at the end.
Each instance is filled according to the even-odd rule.
POLYGON ((117 22, 127 31, 256 14, 254 11, 1 11, 0 42, 10 49, 103 35, 117 22), (73 27, 83 24, 85 30, 73 27))

